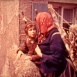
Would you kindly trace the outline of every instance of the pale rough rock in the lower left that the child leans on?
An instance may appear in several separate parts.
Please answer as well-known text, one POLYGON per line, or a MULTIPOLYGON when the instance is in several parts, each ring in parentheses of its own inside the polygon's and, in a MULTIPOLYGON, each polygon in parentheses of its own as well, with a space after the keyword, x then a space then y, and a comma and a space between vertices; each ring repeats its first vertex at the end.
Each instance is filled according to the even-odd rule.
POLYGON ((22 55, 16 62, 17 47, 14 45, 6 56, 5 64, 0 77, 41 77, 38 67, 22 55))

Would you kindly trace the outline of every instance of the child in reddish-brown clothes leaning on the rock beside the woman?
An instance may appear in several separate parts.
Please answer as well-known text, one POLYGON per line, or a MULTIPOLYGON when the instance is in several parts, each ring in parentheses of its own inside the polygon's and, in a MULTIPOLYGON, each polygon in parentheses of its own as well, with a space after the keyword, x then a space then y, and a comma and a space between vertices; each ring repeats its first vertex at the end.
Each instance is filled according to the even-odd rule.
POLYGON ((36 25, 32 22, 27 23, 25 27, 26 38, 25 42, 20 45, 19 49, 17 50, 17 59, 22 55, 28 55, 27 59, 35 61, 39 59, 39 57, 35 53, 35 47, 38 43, 37 40, 37 29, 36 25))

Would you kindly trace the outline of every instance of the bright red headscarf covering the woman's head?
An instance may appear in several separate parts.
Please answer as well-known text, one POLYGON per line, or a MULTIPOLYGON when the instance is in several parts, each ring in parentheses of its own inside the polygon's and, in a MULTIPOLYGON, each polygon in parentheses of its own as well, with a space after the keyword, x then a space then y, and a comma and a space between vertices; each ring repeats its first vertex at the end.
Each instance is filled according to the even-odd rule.
POLYGON ((39 26, 40 33, 46 33, 55 27, 51 15, 47 12, 38 13, 36 16, 36 22, 39 26))

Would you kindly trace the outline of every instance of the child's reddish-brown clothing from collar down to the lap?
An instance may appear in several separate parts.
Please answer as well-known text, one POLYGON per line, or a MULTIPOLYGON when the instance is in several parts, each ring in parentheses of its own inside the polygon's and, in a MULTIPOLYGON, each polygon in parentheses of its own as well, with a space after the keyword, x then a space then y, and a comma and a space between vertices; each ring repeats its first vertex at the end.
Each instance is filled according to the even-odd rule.
POLYGON ((32 57, 32 61, 35 62, 35 64, 38 64, 40 60, 40 57, 35 53, 37 42, 37 38, 31 40, 29 37, 26 36, 25 41, 20 44, 18 49, 18 51, 21 50, 24 54, 30 55, 32 57))

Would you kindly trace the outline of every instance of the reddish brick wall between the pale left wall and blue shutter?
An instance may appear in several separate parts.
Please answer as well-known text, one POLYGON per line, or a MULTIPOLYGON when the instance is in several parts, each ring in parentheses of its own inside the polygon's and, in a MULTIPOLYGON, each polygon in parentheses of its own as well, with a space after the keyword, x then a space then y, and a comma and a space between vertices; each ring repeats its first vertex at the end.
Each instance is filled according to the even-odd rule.
POLYGON ((20 13, 20 28, 19 28, 19 33, 20 33, 20 43, 23 42, 25 39, 25 23, 23 21, 23 15, 22 12, 24 13, 24 16, 27 17, 28 19, 31 20, 32 16, 32 1, 31 0, 20 0, 19 1, 19 13, 20 13))

